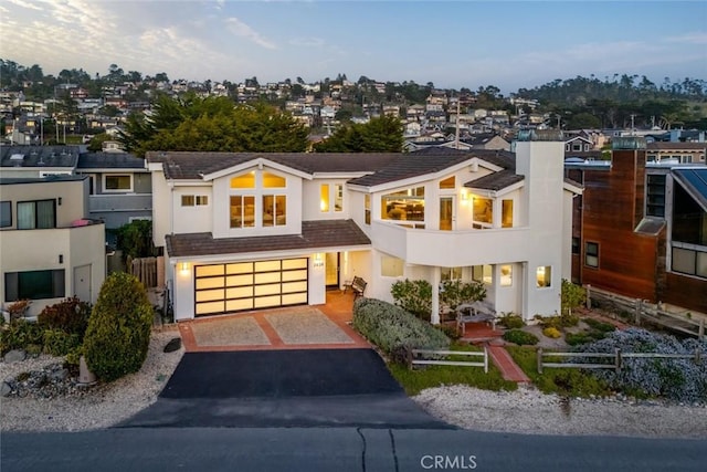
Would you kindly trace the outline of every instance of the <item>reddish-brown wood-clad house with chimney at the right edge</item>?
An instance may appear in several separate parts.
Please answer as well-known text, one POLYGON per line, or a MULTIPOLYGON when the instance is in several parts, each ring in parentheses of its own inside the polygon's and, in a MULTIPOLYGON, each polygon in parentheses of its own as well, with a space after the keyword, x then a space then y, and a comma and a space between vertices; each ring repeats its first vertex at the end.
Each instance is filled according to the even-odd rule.
POLYGON ((707 313, 707 166, 646 164, 647 153, 643 138, 614 138, 611 161, 566 161, 584 186, 572 279, 707 313))

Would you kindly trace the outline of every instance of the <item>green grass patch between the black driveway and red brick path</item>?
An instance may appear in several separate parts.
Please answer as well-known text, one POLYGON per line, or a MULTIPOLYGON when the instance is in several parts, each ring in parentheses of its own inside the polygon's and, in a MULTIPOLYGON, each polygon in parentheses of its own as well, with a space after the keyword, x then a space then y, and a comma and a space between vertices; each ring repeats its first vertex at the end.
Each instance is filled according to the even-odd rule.
MULTIPOLYGON (((466 344, 453 344, 450 350, 469 352, 483 349, 466 344)), ((447 359, 479 361, 481 357, 449 356, 447 359)), ((495 391, 518 388, 515 381, 504 380, 500 371, 490 363, 490 359, 488 361, 488 374, 484 374, 483 367, 419 366, 411 370, 404 365, 389 364, 388 368, 409 396, 418 395, 425 388, 452 385, 466 385, 495 391)))

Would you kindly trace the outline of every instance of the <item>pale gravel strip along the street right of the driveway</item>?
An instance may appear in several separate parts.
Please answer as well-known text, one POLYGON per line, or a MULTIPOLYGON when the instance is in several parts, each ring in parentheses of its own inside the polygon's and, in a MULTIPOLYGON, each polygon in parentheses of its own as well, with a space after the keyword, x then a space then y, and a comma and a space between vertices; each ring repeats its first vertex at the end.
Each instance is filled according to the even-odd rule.
POLYGON ((704 405, 567 400, 531 387, 495 392, 463 386, 426 389, 413 400, 444 421, 479 431, 707 439, 704 405))

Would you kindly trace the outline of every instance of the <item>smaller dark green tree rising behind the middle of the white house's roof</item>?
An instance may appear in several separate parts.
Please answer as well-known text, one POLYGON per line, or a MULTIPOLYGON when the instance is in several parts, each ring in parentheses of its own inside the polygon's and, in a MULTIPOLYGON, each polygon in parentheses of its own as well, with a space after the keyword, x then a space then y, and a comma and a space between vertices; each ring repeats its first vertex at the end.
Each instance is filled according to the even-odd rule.
POLYGON ((400 153, 402 124, 393 116, 380 116, 366 124, 345 124, 326 140, 315 145, 317 153, 400 153))

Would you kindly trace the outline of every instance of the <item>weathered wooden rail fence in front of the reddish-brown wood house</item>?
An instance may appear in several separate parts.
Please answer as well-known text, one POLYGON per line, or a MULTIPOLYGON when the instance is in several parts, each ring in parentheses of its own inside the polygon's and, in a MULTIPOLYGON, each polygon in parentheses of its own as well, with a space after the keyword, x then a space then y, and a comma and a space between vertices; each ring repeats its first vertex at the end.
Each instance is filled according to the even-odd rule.
POLYGON ((609 308, 614 319, 618 319, 619 313, 623 313, 625 316, 622 319, 636 326, 651 323, 699 339, 705 337, 705 318, 693 319, 687 314, 679 315, 661 310, 661 304, 653 305, 645 300, 629 298, 590 285, 585 285, 584 289, 587 289, 587 307, 591 310, 594 302, 609 308))

